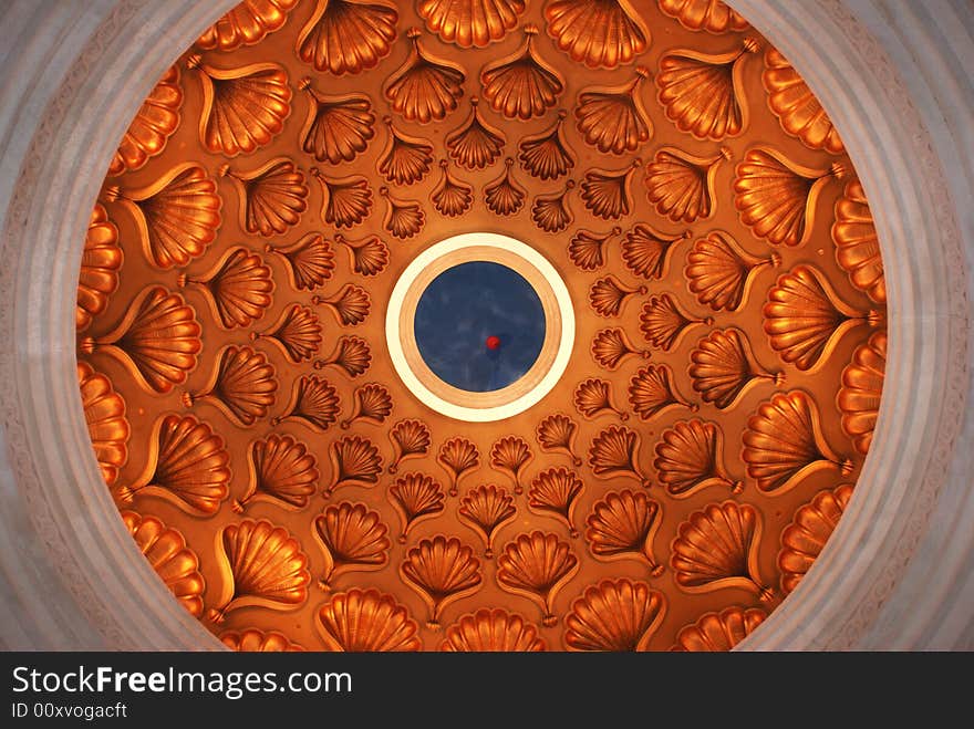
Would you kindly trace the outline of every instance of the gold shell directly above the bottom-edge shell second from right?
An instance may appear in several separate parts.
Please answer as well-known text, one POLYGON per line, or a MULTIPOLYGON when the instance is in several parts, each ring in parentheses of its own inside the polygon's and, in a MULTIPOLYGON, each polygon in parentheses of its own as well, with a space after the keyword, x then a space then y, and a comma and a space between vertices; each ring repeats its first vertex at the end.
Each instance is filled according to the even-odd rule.
POLYGON ((659 577, 663 565, 653 556, 660 528, 660 504, 642 491, 611 491, 597 501, 586 519, 586 541, 597 560, 636 560, 659 577))

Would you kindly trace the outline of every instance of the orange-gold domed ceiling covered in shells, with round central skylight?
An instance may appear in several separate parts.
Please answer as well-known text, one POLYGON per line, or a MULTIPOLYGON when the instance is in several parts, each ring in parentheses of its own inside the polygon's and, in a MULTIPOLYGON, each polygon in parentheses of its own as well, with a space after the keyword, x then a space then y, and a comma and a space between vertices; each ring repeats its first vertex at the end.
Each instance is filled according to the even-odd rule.
POLYGON ((112 160, 77 374, 231 647, 727 649, 852 494, 884 313, 839 135, 722 2, 247 0, 112 160))

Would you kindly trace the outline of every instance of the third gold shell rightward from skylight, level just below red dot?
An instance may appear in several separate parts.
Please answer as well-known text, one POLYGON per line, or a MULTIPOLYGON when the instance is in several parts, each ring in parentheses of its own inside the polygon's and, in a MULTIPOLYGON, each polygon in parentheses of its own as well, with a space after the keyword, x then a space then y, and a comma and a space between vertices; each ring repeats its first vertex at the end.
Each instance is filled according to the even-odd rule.
POLYGON ((704 403, 718 409, 732 407, 760 382, 780 385, 785 376, 768 372, 755 358, 747 335, 738 329, 714 330, 690 353, 690 378, 704 403))

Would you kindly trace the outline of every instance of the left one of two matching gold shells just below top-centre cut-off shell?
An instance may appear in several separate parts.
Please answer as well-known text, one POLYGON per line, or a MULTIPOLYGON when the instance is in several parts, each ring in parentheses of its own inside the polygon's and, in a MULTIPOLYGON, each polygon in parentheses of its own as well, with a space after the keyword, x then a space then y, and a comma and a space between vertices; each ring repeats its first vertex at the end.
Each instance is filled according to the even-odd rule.
POLYGON ((410 29, 410 55, 386 82, 385 97, 407 122, 426 124, 445 118, 457 107, 466 75, 460 66, 424 52, 419 35, 419 29, 410 29))

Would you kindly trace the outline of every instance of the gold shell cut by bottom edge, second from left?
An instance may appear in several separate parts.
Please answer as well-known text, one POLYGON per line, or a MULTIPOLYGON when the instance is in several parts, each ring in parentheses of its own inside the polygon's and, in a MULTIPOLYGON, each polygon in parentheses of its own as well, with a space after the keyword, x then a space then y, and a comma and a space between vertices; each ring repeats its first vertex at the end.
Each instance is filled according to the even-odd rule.
POLYGON ((322 605, 315 625, 325 650, 384 653, 421 650, 419 626, 392 595, 377 590, 338 593, 322 605))

